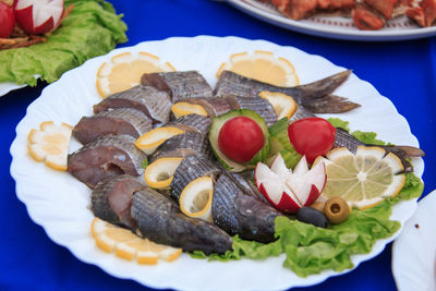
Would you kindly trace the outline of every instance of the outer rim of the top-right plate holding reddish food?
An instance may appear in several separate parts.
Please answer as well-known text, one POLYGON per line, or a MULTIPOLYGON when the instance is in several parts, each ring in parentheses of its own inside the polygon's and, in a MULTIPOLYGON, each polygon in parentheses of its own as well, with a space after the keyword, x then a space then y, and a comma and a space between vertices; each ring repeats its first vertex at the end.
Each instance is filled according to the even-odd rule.
MULTIPOLYGON (((436 35, 436 26, 432 27, 419 27, 414 29, 403 29, 403 31, 360 31, 346 32, 336 31, 331 27, 326 26, 319 27, 314 26, 310 23, 294 21, 282 15, 271 14, 263 9, 255 7, 246 0, 223 0, 233 5, 234 8, 254 16, 258 20, 268 22, 270 24, 294 31, 298 33, 303 33, 313 36, 343 39, 343 40, 361 40, 361 41, 395 41, 395 40, 408 40, 425 38, 436 35)), ((259 3, 261 5, 262 3, 259 3)))

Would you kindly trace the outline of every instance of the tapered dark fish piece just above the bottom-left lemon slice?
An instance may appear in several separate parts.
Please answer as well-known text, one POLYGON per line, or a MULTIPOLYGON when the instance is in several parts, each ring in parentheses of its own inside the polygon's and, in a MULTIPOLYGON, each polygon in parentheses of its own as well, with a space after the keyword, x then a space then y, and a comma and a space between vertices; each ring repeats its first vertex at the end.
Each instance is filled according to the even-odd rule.
POLYGON ((148 187, 134 194, 132 218, 141 235, 156 243, 186 252, 203 251, 207 255, 231 250, 232 240, 225 231, 185 216, 174 202, 148 187))

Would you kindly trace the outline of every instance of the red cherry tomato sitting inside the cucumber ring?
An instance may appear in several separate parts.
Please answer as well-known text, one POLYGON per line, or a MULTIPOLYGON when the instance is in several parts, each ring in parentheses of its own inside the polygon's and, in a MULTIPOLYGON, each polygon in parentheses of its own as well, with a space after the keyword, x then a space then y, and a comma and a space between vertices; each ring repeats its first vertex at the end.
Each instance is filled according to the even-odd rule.
POLYGON ((235 117, 222 125, 218 145, 228 158, 246 162, 264 147, 264 133, 254 120, 235 117))

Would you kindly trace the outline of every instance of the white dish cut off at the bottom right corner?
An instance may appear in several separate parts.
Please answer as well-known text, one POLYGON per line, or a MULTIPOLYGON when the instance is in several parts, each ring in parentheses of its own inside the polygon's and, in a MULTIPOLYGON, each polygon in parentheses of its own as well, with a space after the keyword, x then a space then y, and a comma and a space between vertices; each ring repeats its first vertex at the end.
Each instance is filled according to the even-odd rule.
POLYGON ((399 291, 436 290, 436 191, 417 204, 392 247, 392 274, 399 291))

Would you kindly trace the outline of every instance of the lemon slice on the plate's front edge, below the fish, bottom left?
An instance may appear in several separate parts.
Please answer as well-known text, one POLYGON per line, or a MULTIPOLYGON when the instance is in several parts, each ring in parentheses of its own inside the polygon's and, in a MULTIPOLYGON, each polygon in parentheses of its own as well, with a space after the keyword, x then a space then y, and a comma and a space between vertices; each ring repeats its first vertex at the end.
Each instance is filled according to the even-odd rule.
POLYGON ((130 230, 108 223, 99 218, 94 218, 90 233, 96 245, 106 253, 134 260, 138 264, 155 265, 158 259, 172 262, 180 256, 182 248, 157 244, 147 239, 141 239, 130 230))

